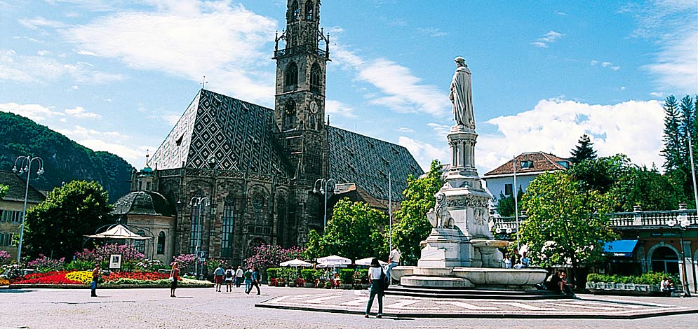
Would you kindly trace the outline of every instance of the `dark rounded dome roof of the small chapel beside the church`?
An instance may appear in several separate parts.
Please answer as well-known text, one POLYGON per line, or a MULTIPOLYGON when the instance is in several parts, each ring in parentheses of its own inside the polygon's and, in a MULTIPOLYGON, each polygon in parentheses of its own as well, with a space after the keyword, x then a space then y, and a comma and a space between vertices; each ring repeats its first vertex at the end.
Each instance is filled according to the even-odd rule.
POLYGON ((170 202, 160 193, 135 191, 116 200, 112 214, 174 216, 175 210, 170 202))

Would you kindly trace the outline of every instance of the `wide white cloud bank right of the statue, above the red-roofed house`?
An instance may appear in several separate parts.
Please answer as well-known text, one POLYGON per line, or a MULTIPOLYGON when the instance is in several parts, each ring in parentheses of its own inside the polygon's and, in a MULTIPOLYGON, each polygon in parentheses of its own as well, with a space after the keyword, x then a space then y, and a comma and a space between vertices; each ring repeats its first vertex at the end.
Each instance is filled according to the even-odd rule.
POLYGON ((614 105, 544 99, 534 109, 500 116, 486 124, 499 134, 478 139, 478 166, 493 169, 523 152, 543 151, 566 158, 582 134, 589 134, 600 156, 624 153, 634 163, 663 163, 664 111, 658 101, 614 105))

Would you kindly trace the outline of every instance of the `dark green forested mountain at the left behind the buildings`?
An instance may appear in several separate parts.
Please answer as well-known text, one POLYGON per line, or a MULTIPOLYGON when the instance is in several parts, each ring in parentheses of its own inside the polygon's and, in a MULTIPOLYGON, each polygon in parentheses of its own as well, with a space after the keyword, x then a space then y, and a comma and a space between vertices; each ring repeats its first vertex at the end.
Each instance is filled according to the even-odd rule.
POLYGON ((22 155, 43 159, 44 174, 39 179, 34 179, 37 167, 32 163, 32 186, 39 190, 77 179, 102 184, 109 202, 130 192, 133 167, 118 155, 92 151, 28 118, 0 112, 0 170, 11 170, 22 155))

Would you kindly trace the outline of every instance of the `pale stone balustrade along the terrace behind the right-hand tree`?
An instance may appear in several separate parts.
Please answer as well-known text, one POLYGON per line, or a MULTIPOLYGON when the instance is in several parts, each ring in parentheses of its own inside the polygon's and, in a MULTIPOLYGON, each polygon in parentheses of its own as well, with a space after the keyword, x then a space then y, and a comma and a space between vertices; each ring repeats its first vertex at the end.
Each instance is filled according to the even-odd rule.
MULTIPOLYGON (((698 225, 698 214, 695 209, 681 209, 668 211, 633 211, 608 214, 610 223, 615 228, 656 229, 669 228, 669 220, 677 221, 678 216, 687 216, 690 225, 698 225)), ((492 230, 498 233, 511 233, 518 230, 518 224, 525 221, 528 216, 519 216, 518 223, 515 217, 491 216, 492 230)), ((678 224, 676 224, 678 225, 678 224)))

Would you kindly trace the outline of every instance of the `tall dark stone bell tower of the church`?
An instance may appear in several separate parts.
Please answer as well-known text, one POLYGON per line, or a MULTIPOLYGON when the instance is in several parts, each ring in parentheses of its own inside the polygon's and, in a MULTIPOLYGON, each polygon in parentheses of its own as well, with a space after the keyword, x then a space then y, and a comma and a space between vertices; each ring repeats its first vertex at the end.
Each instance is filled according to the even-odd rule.
POLYGON ((326 174, 325 73, 329 34, 320 28, 320 0, 288 0, 286 29, 276 35, 274 121, 294 178, 313 183, 326 174))

